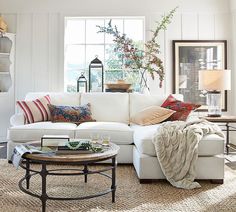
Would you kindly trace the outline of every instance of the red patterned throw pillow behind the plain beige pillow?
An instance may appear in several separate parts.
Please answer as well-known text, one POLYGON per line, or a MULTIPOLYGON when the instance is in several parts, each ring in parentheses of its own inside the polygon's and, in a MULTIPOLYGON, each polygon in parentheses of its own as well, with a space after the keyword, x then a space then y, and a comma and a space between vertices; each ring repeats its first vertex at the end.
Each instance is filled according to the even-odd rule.
POLYGON ((161 105, 161 107, 176 111, 168 118, 169 121, 185 121, 188 118, 190 112, 199 108, 200 106, 201 105, 198 104, 182 102, 180 100, 177 100, 172 95, 169 95, 168 98, 161 105))

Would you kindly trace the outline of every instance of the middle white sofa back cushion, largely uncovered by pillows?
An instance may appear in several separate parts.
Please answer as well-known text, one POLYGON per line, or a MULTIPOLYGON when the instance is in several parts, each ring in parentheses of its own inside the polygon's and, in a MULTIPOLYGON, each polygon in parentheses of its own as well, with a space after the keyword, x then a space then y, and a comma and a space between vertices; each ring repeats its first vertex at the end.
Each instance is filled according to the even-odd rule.
POLYGON ((81 104, 91 104, 96 121, 129 122, 128 93, 84 93, 81 104))

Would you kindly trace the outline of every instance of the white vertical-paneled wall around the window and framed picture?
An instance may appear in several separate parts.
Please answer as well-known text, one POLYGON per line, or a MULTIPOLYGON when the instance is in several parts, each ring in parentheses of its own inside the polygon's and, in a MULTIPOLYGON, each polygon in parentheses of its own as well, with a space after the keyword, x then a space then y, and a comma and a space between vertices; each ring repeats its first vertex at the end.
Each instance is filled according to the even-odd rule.
MULTIPOLYGON (((23 99, 30 91, 63 91, 65 16, 145 16, 146 39, 149 39, 149 30, 154 28, 155 21, 160 20, 163 13, 179 5, 172 23, 159 36, 162 50, 160 57, 164 61, 166 77, 161 89, 158 87, 158 81, 149 80, 152 93, 172 92, 172 40, 225 39, 230 43, 231 39, 228 1, 223 0, 149 0, 151 6, 146 1, 140 1, 140 4, 136 5, 133 4, 136 1, 129 1, 126 2, 126 7, 104 3, 100 10, 89 8, 93 1, 86 1, 81 7, 73 7, 73 4, 68 6, 65 2, 59 4, 57 1, 50 1, 49 4, 46 0, 37 5, 28 1, 25 7, 20 7, 20 3, 16 6, 13 0, 0 0, 0 3, 2 2, 5 2, 5 5, 1 4, 0 12, 9 25, 9 31, 16 33, 16 99, 23 99)), ((79 1, 71 2, 79 4, 79 1)), ((228 47, 231 48, 230 45, 228 47)), ((7 118, 10 115, 12 114, 9 113, 7 118)), ((0 130, 0 137, 6 136, 9 119, 0 120, 3 121, 7 121, 7 124, 0 130)))

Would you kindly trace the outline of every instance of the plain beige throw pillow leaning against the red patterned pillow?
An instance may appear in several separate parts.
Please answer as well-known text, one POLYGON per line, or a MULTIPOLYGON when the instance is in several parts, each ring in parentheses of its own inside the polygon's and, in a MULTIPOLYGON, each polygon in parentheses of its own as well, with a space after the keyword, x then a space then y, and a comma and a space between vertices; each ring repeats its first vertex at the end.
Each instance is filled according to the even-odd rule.
POLYGON ((158 124, 165 121, 173 113, 175 113, 175 111, 170 109, 159 106, 150 106, 131 117, 131 122, 143 126, 158 124))

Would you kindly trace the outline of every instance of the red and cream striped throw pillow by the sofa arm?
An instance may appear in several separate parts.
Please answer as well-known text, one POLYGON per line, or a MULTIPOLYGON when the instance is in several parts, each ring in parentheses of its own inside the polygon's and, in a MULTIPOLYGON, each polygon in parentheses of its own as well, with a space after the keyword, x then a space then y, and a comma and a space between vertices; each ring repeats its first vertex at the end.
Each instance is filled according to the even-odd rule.
POLYGON ((27 124, 51 120, 48 108, 48 104, 51 103, 49 95, 32 101, 17 101, 16 103, 22 109, 27 124))

